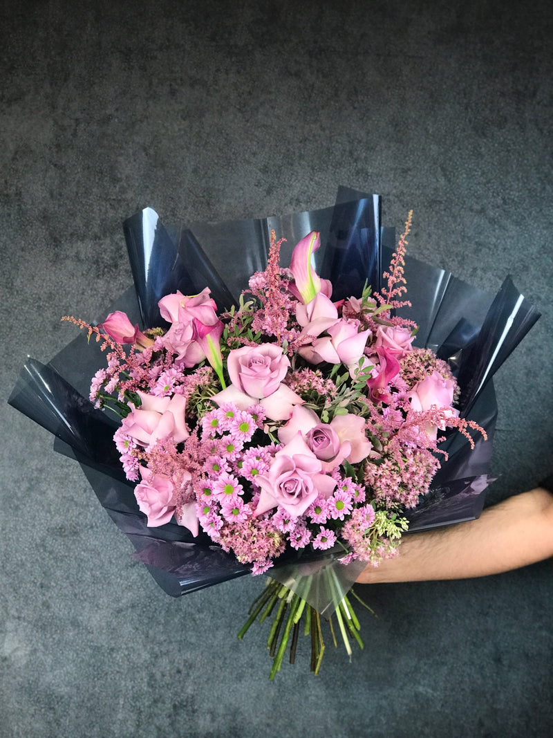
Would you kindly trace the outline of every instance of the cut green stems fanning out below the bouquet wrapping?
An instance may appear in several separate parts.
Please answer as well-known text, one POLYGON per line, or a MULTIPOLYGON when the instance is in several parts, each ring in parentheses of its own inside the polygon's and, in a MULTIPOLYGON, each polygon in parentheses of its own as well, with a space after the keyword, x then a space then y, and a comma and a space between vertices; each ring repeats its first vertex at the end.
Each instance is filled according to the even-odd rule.
MULTIPOLYGON (((303 594, 307 595, 310 587, 310 576, 305 577, 305 582, 301 587, 303 594)), ((357 595, 350 590, 353 596, 358 599, 357 595)), ((364 604, 364 603, 363 603, 364 604)), ((365 606, 366 607, 366 606, 365 606)), ((370 609, 370 608, 369 608, 370 609)), ((277 672, 282 666, 282 661, 286 652, 288 642, 290 642, 290 663, 296 660, 296 649, 298 645, 299 631, 302 629, 304 635, 310 635, 311 638, 311 663, 310 668, 314 675, 319 674, 321 661, 324 655, 324 641, 321 630, 321 616, 317 610, 312 607, 304 597, 293 592, 285 584, 277 582, 275 579, 268 578, 265 589, 252 602, 248 611, 248 620, 238 633, 238 638, 243 639, 256 619, 262 623, 267 618, 273 617, 271 630, 267 639, 267 649, 269 655, 273 659, 273 666, 269 679, 273 680, 277 672)), ((334 615, 338 623, 338 629, 341 633, 342 641, 349 657, 352 655, 352 649, 349 644, 349 636, 357 642, 359 648, 363 648, 364 644, 359 635, 361 626, 358 618, 352 608, 347 596, 344 596, 338 602, 334 615)), ((333 638, 334 646, 337 647, 333 616, 329 618, 330 633, 333 638)))

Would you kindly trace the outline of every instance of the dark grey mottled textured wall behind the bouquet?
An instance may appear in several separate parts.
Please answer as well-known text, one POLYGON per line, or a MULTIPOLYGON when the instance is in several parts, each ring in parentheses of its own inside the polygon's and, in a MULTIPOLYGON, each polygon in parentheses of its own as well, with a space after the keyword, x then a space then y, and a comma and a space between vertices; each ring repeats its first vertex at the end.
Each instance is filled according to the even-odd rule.
MULTIPOLYGON (((8 407, 131 283, 121 222, 414 209, 411 254, 543 313, 498 373, 490 502, 552 472, 550 2, 5 0, 1 59, 0 735, 538 736, 553 730, 551 562, 364 588, 366 649, 276 683, 259 582, 173 600, 79 467, 8 407)), ((521 535, 532 535, 521 524, 521 535)))

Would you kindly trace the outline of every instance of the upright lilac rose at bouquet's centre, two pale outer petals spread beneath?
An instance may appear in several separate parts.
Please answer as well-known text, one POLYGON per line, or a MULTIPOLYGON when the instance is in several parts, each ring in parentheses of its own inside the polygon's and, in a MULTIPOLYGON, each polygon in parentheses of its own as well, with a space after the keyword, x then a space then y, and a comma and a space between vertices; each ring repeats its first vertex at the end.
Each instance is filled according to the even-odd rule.
POLYGON ((235 348, 226 362, 232 384, 212 399, 219 405, 234 402, 239 410, 260 403, 271 420, 288 420, 293 406, 303 402, 282 384, 289 367, 288 357, 277 344, 235 348))

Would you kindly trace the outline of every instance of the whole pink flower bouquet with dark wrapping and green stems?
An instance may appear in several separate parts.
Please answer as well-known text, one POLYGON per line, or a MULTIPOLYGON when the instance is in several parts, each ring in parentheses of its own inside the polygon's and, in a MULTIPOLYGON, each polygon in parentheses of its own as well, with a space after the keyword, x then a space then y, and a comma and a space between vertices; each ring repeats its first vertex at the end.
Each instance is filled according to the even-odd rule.
MULTIPOLYGON (((142 261, 133 260, 142 328, 122 310, 99 325, 67 318, 96 337, 107 360, 89 389, 94 407, 80 398, 75 413, 74 392, 57 379, 50 406, 63 407, 66 427, 71 418, 71 438, 27 407, 28 377, 11 399, 69 440, 65 451, 86 465, 102 503, 161 584, 167 573, 180 577, 181 591, 245 571, 269 573, 240 637, 257 617, 274 618, 271 678, 289 643, 293 661, 300 627, 319 671, 321 614, 334 640, 335 616, 348 653, 349 638, 362 647, 349 590, 361 568, 397 554, 409 511, 411 530, 478 514, 493 400, 473 413, 476 420, 468 415, 504 358, 505 321, 510 351, 537 317, 521 296, 515 315, 505 315, 503 294, 476 334, 461 320, 434 351, 428 336, 436 313, 425 344, 415 345, 417 323, 404 299, 411 214, 380 282, 378 201, 363 201, 372 223, 358 221, 357 239, 351 207, 332 213, 328 230, 345 218, 349 243, 338 248, 325 238, 321 272, 330 279, 316 268, 320 232, 302 235, 284 267, 286 242, 271 229, 264 268, 251 272, 237 300, 190 232, 194 269, 177 282, 192 289, 170 289, 174 239, 165 238, 164 258, 153 261, 158 272, 171 265, 161 282, 137 273, 142 261), (113 410, 117 424, 102 410, 113 410), (119 458, 108 446, 112 433, 119 458), (107 492, 102 477, 111 480, 107 492)), ((360 199, 349 202, 360 210, 360 199)), ((142 235, 152 212, 142 214, 142 235)), ((127 224, 131 258, 135 236, 127 224)), ((513 290, 504 287, 509 304, 513 290)), ((27 374, 36 387, 46 368, 27 374)), ((52 378, 43 384, 52 392, 52 378)))

